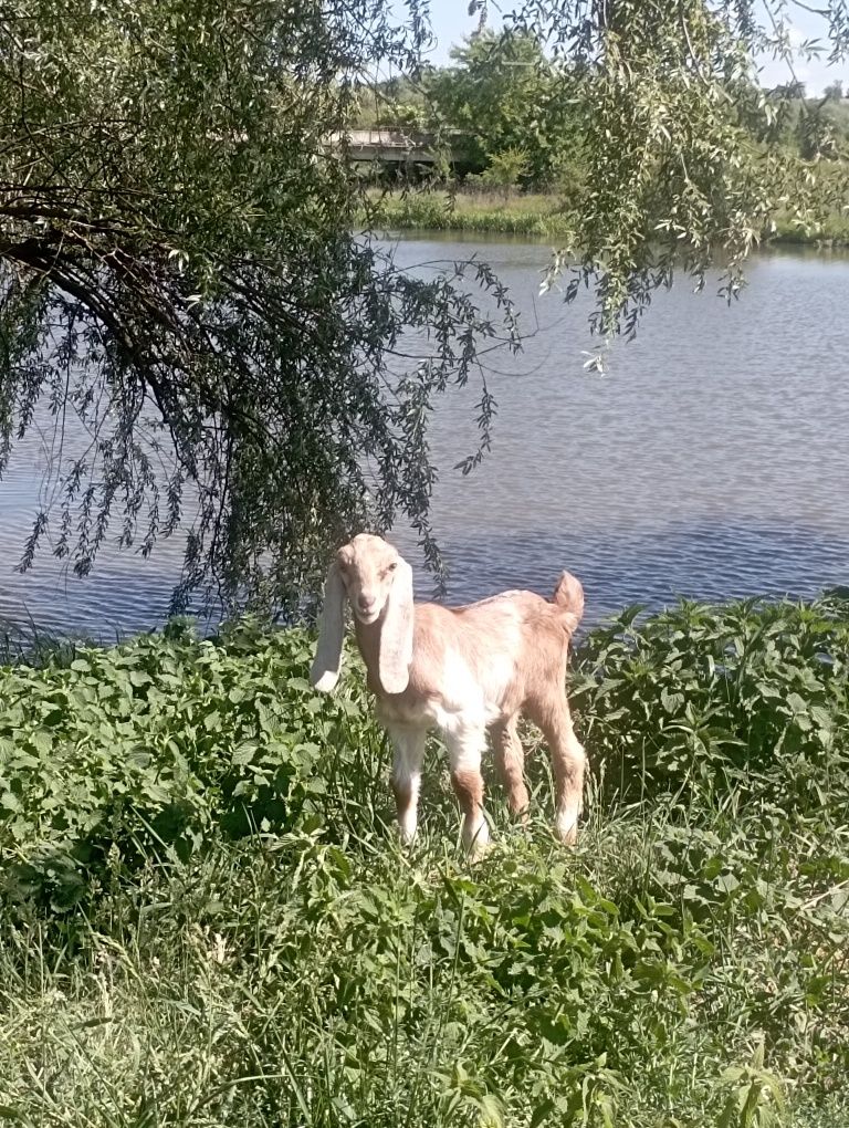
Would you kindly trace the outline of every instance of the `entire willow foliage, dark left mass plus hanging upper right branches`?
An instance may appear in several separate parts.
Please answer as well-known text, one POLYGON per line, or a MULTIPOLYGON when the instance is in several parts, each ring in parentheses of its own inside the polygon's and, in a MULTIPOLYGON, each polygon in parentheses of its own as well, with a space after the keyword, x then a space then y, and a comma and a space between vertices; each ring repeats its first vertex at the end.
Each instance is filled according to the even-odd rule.
MULTIPOLYGON (((515 347, 483 265, 408 273, 356 235, 344 138, 363 80, 415 72, 417 0, 5 0, 0 7, 0 467, 54 421, 44 548, 90 569, 107 537, 152 550, 189 526, 177 602, 310 590, 327 546, 403 514, 432 559, 434 397, 515 347), (398 6, 392 6, 397 12, 398 6), (77 417, 73 428, 68 423, 77 417)), ((480 5, 472 5, 480 7, 480 5)), ((799 174, 743 118, 769 107, 753 54, 781 50, 750 0, 531 0, 583 132, 567 297, 633 328, 674 271, 726 289, 799 174)), ((834 50, 847 42, 834 0, 834 50)))

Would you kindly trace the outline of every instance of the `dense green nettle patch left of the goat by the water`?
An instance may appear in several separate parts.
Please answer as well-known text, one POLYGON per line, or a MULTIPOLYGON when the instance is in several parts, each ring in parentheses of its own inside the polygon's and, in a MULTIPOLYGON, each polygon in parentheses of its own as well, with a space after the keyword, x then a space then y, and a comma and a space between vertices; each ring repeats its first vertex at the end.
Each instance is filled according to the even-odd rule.
POLYGON ((213 643, 175 624, 2 671, 6 893, 46 889, 68 906, 116 849, 130 872, 218 835, 342 832, 373 812, 386 757, 356 662, 328 704, 307 680, 311 656, 300 631, 248 620, 213 643))

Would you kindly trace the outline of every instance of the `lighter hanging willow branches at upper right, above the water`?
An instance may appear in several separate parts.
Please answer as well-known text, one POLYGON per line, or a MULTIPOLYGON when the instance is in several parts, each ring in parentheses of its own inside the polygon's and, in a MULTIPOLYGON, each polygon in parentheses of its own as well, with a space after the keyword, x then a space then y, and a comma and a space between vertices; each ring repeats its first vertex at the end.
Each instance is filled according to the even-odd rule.
MULTIPOLYGON (((573 271, 567 297, 594 289, 599 332, 634 332, 658 287, 676 273, 702 285, 716 261, 720 292, 734 297, 776 211, 814 222, 849 201, 846 176, 817 186, 808 166, 748 129, 775 113, 757 60, 778 55, 791 73, 784 6, 528 0, 508 23, 583 78, 580 247, 556 268, 573 271)), ((844 5, 830 6, 823 32, 841 58, 844 5)))

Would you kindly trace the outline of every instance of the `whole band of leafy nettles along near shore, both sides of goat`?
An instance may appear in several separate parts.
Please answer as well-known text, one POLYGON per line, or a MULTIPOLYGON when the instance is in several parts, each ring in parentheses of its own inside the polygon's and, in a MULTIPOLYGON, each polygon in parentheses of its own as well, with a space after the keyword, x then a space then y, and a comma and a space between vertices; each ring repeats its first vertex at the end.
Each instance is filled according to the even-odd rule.
MULTIPOLYGON (((390 757, 364 671, 351 655, 328 699, 308 680, 312 651, 306 632, 251 620, 215 641, 175 624, 113 650, 63 649, 42 669, 0 671, 6 893, 44 889, 56 905, 73 904, 105 878, 115 851, 130 873, 222 836, 393 837, 390 757)), ((592 772, 591 840, 593 825, 603 839, 620 812, 669 823, 658 845, 667 876, 652 891, 686 895, 697 917, 739 888, 760 901, 762 858, 746 854, 750 836, 777 844, 790 823, 820 844, 833 839, 805 862, 812 896, 817 882, 849 876, 839 843, 849 808, 848 662, 840 600, 681 605, 591 632, 569 688, 592 772)), ((444 763, 436 744, 432 754, 444 763)), ((552 802, 546 760, 528 765, 543 822, 552 802)), ((446 773, 428 772, 426 788, 434 840, 450 839, 446 773)), ((495 782, 488 795, 497 837, 510 836, 495 782)), ((798 857, 785 851, 773 861, 782 871, 798 857)), ((622 890, 644 878, 630 864, 617 872, 622 890)))

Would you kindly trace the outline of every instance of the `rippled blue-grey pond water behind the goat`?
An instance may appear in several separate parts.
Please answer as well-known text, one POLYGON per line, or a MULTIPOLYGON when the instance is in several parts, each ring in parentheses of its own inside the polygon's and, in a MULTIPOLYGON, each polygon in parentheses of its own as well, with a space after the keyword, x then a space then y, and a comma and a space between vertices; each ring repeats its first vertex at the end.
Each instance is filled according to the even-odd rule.
MULTIPOLYGON (((676 285, 600 377, 582 368, 589 305, 537 294, 545 246, 416 238, 397 257, 472 252, 511 288, 533 335, 519 356, 488 358, 495 443, 470 477, 450 467, 474 441, 478 389, 452 393, 435 417, 433 518, 452 601, 547 593, 563 567, 583 581, 590 622, 680 594, 807 596, 849 582, 849 258, 760 256, 731 308, 710 287, 676 285)), ((161 622, 179 538, 148 561, 106 553, 86 580, 46 556, 15 573, 43 461, 27 443, 0 492, 0 619, 97 637, 161 622)), ((408 536, 397 540, 416 557, 408 536)), ((421 569, 417 587, 432 587, 421 569)))

